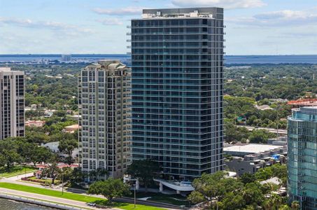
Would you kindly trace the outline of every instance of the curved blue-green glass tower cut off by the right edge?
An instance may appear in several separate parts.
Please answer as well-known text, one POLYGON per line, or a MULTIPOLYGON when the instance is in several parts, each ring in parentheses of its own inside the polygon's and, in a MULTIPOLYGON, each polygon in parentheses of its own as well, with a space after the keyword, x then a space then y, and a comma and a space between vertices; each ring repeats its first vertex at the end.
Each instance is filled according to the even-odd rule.
POLYGON ((288 118, 288 194, 301 209, 317 209, 317 107, 288 118))

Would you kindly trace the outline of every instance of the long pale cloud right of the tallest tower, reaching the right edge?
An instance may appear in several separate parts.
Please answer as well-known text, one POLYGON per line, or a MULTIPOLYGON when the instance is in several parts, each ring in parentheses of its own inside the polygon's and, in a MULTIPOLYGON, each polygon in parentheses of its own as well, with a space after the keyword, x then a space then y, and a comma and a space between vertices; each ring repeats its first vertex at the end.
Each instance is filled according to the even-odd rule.
POLYGON ((253 15, 253 17, 250 18, 227 18, 226 21, 237 23, 239 25, 254 25, 259 27, 316 25, 317 8, 311 8, 308 10, 279 10, 260 13, 258 15, 253 15))

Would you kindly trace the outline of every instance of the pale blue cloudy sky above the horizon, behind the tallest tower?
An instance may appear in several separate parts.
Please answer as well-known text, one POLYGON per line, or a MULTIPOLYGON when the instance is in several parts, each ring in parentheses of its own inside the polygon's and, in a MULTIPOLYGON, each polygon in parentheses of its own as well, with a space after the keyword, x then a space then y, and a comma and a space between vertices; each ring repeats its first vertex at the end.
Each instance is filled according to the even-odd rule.
POLYGON ((317 0, 0 0, 0 54, 125 54, 142 8, 225 8, 227 55, 316 55, 317 0))

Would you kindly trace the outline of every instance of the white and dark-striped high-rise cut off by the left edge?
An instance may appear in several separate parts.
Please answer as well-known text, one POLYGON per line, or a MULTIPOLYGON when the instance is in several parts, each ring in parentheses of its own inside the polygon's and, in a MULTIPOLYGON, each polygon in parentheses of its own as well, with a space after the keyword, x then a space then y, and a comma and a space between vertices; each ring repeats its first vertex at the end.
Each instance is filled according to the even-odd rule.
POLYGON ((24 137, 24 72, 0 68, 0 140, 24 137))

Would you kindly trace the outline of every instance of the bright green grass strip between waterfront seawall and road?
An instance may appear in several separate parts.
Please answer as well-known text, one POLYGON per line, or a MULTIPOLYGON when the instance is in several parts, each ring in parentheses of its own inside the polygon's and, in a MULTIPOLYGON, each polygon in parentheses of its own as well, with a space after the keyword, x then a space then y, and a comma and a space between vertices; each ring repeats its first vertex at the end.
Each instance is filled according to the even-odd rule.
MULTIPOLYGON (((19 190, 27 193, 36 193, 40 195, 48 195, 52 197, 60 197, 64 199, 69 199, 69 200, 76 200, 80 202, 96 202, 99 204, 107 204, 106 199, 101 199, 98 197, 92 197, 92 196, 87 196, 87 195, 80 195, 76 193, 62 193, 60 191, 56 190, 48 190, 48 189, 43 189, 43 188, 36 188, 36 187, 30 187, 30 186, 22 186, 22 185, 17 185, 14 183, 0 183, 0 188, 6 188, 10 190, 19 190)), ((118 203, 114 202, 111 207, 119 208, 119 209, 134 209, 134 204, 127 204, 127 203, 118 203)), ((157 207, 148 207, 144 205, 136 205, 136 210, 162 210, 162 208, 157 208, 157 207)))

